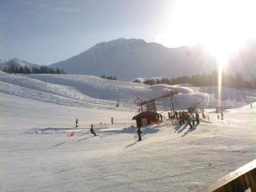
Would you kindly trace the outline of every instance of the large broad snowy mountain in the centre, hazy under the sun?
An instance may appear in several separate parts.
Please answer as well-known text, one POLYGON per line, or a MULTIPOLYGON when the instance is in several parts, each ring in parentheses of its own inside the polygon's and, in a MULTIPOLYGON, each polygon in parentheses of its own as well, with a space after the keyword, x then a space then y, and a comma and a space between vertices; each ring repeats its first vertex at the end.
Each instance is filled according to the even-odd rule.
MULTIPOLYGON (((256 51, 250 48, 244 50, 243 54, 246 59, 234 59, 234 65, 230 69, 232 72, 240 71, 251 76, 255 71, 252 62, 256 61, 256 51)), ((214 57, 203 46, 168 48, 142 39, 119 38, 98 43, 81 54, 52 64, 51 67, 62 68, 68 74, 106 74, 122 80, 132 80, 138 77, 171 78, 210 73, 217 66, 214 57)))

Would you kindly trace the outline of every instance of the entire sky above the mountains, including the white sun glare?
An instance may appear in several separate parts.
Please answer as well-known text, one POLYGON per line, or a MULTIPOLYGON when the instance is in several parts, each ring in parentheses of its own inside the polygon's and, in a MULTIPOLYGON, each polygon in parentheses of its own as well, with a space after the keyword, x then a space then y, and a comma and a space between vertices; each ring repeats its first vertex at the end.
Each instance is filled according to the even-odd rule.
POLYGON ((0 0, 0 58, 49 65, 142 38, 230 54, 256 38, 255 0, 0 0))

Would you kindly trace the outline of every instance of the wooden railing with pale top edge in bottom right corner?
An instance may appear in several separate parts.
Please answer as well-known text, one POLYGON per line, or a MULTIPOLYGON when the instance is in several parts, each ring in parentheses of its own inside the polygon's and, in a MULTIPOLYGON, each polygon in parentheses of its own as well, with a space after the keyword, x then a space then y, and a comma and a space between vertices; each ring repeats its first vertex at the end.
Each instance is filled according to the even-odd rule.
POLYGON ((256 159, 198 192, 256 192, 256 159))

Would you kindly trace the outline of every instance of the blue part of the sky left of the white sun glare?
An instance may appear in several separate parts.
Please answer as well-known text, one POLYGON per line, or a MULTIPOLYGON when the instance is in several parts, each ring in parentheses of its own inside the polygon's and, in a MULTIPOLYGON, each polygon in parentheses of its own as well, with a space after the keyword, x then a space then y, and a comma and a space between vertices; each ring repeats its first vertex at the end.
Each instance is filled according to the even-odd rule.
POLYGON ((51 64, 115 38, 154 42, 168 0, 0 0, 0 58, 51 64))

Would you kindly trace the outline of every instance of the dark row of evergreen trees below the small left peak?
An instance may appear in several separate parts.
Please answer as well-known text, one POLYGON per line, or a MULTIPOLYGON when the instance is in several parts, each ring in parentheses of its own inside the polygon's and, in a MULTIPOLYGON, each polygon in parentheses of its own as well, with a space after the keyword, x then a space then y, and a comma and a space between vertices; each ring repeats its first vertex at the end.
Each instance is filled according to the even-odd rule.
POLYGON ((9 67, 4 67, 3 72, 9 74, 66 74, 66 72, 58 67, 54 70, 49 66, 32 67, 28 66, 15 66, 11 64, 9 67))

